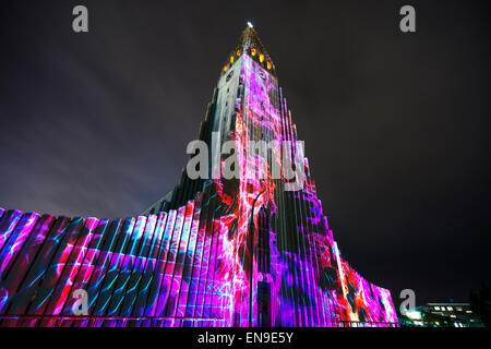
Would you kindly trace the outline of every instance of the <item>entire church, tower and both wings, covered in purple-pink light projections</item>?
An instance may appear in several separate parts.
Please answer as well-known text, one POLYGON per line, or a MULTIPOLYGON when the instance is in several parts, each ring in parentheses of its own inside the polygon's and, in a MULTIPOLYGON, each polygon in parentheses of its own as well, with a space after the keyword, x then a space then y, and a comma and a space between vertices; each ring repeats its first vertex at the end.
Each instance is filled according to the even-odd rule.
POLYGON ((137 217, 0 209, 0 326, 397 324, 390 291, 340 256, 252 26, 227 59, 200 140, 213 146, 213 134, 233 142, 239 176, 216 173, 229 159, 219 155, 209 179, 184 170, 137 217), (250 146, 259 141, 266 147, 250 146), (86 315, 73 313, 75 290, 86 291, 86 315))

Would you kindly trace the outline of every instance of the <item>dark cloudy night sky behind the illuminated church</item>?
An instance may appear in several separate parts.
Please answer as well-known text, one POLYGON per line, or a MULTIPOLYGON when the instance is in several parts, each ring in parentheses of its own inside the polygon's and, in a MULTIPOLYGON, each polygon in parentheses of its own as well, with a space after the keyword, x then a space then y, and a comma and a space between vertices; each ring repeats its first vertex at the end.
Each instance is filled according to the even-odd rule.
POLYGON ((490 15, 464 0, 2 1, 0 206, 147 208, 178 183, 251 21, 344 257, 396 304, 405 288, 467 301, 491 284, 490 15), (417 33, 398 28, 404 4, 417 33))

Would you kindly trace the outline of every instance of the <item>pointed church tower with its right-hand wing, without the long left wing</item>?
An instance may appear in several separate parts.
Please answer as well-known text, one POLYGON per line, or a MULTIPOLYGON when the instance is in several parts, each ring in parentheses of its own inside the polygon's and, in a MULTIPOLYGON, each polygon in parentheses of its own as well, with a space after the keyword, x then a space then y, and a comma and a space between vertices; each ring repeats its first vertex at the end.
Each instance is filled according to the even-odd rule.
MULTIPOLYGON (((340 258, 275 65, 250 23, 223 68, 200 139, 211 149, 208 178, 213 156, 221 166, 227 161, 220 153, 225 142, 235 142, 238 158, 239 176, 227 180, 218 170, 196 185, 203 192, 215 188, 217 204, 231 219, 229 227, 221 225, 228 260, 220 256, 232 272, 230 325, 396 322, 388 291, 369 285, 340 258)), ((151 210, 195 195, 181 193, 192 186, 185 170, 182 178, 173 195, 151 210)))

